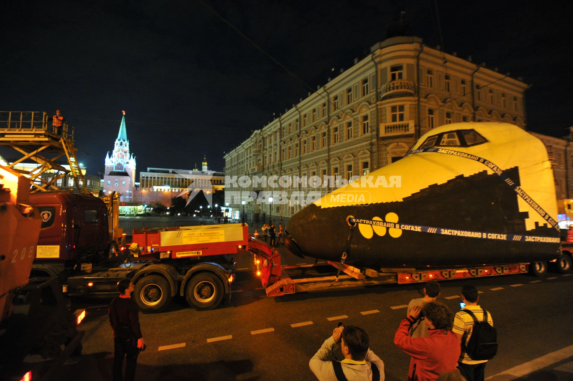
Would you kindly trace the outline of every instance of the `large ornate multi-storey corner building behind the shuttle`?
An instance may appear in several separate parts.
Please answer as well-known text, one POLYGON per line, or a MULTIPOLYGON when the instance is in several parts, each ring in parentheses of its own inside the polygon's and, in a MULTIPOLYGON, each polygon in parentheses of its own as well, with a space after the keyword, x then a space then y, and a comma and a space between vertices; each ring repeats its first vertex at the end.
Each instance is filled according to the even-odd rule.
POLYGON ((272 188, 234 182, 234 176, 349 179, 399 160, 419 136, 442 124, 507 121, 525 128, 527 87, 497 69, 423 45, 421 38, 388 38, 228 152, 225 201, 248 219, 286 220, 311 202, 293 192, 324 194, 336 183, 323 186, 315 178, 272 188), (258 198, 237 197, 238 191, 258 198))

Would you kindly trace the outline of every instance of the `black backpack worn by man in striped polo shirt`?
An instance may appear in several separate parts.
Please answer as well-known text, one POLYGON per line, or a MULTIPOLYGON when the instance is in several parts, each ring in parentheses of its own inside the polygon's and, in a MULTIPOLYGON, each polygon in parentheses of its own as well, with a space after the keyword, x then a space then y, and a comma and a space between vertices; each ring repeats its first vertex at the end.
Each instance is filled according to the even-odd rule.
POLYGON ((473 318, 472 336, 469 337, 468 344, 465 344, 465 351, 472 360, 491 360, 497 353, 497 331, 488 323, 488 312, 484 312, 484 321, 477 321, 476 315, 469 309, 465 312, 473 318))

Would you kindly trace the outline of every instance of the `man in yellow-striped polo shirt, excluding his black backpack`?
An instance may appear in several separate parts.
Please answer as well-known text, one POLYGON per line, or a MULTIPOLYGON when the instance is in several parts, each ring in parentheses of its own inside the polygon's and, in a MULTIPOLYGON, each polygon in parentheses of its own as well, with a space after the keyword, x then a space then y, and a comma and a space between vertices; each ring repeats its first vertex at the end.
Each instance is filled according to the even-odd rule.
MULTIPOLYGON (((465 346, 472 336, 474 320, 473 317, 464 310, 472 311, 473 314, 476 315, 477 321, 483 321, 484 309, 477 304, 479 298, 476 286, 470 284, 462 286, 462 301, 466 305, 454 316, 454 327, 452 329, 458 336, 462 347, 458 366, 464 372, 468 381, 484 381, 485 365, 488 362, 488 360, 472 360, 465 351, 465 346)), ((489 311, 486 312, 488 313, 488 323, 493 327, 492 314, 489 313, 489 311)))

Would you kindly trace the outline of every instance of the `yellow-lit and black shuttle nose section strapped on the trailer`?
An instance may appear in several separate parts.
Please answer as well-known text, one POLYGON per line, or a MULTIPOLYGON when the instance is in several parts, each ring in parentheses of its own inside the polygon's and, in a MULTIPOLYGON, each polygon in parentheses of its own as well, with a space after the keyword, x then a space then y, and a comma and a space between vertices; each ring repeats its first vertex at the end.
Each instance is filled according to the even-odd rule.
POLYGON ((541 140, 508 123, 453 123, 337 188, 286 226, 292 253, 380 267, 467 266, 560 255, 541 140))

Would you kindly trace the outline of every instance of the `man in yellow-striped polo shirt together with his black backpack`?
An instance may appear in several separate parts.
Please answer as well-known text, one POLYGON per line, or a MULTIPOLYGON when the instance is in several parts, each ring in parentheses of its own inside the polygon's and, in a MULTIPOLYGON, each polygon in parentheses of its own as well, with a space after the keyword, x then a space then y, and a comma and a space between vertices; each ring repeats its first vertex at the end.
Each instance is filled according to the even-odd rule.
POLYGON ((485 365, 497 353, 497 332, 493 328, 492 314, 477 304, 479 298, 476 286, 462 286, 465 307, 454 316, 452 329, 462 349, 458 367, 468 381, 483 381, 485 365))

